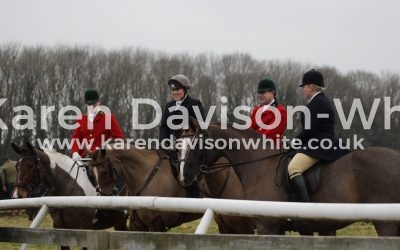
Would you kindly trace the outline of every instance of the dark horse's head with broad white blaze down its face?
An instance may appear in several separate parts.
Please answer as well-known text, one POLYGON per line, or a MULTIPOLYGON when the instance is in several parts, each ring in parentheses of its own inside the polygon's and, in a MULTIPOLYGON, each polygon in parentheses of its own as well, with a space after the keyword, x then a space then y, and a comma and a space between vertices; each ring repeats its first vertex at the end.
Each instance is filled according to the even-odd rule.
POLYGON ((181 137, 176 145, 180 157, 179 182, 182 186, 190 186, 197 180, 201 168, 212 162, 206 157, 205 140, 208 132, 200 127, 194 118, 189 120, 189 129, 181 130, 181 137))

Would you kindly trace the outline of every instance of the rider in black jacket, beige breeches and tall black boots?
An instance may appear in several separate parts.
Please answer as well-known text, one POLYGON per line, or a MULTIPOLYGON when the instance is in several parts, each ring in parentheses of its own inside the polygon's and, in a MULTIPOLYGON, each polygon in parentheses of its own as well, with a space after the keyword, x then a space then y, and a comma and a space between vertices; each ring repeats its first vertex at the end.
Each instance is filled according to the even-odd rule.
POLYGON ((302 84, 307 108, 310 111, 310 127, 306 128, 304 113, 301 113, 302 131, 295 140, 301 142, 301 148, 289 163, 288 172, 295 189, 296 200, 310 201, 302 173, 320 160, 334 161, 347 154, 347 149, 339 147, 335 137, 335 111, 324 90, 324 78, 315 69, 306 72, 302 84))

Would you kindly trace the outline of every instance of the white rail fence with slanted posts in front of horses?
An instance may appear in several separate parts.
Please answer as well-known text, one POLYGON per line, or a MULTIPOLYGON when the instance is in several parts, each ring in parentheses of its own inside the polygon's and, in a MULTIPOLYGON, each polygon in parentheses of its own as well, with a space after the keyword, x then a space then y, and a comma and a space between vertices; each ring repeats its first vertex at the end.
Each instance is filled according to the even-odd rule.
MULTIPOLYGON (((211 198, 202 198, 202 199, 169 198, 169 197, 150 197, 150 196, 147 197, 146 196, 142 197, 70 196, 70 197, 41 197, 41 198, 0 201, 0 209, 38 208, 38 207, 40 207, 41 210, 36 216, 35 220, 32 222, 30 228, 37 228, 38 226, 40 226, 42 220, 45 218, 48 212, 48 208, 51 207, 149 209, 149 210, 171 211, 171 212, 204 213, 204 216, 201 219, 195 234, 205 234, 207 232, 207 229, 213 219, 214 213, 224 214, 224 215, 248 216, 248 217, 279 217, 287 219, 303 218, 303 219, 314 219, 314 220, 400 222, 400 204, 393 204, 393 203, 384 203, 384 204, 383 203, 380 204, 296 203, 296 202, 269 202, 269 201, 229 200, 229 199, 211 199, 211 198)), ((382 238, 380 239, 382 240, 382 238)), ((395 243, 393 243, 394 246, 396 245, 400 246, 400 241, 397 238, 394 238, 393 241, 395 241, 395 243)), ((364 241, 364 243, 365 242, 366 241, 364 241)), ((390 248, 390 246, 392 245, 389 244, 388 242, 386 242, 385 244, 386 244, 385 249, 399 249, 397 247, 390 248)), ((260 246, 264 247, 265 244, 261 244, 260 246)), ((143 247, 143 245, 141 245, 140 247, 143 247)), ((336 249, 342 249, 337 245, 334 247, 336 249)), ((366 246, 362 245, 362 247, 366 246)), ((96 245, 95 249, 99 249, 99 246, 96 245)), ((149 248, 149 249, 155 249, 155 248, 149 248)))

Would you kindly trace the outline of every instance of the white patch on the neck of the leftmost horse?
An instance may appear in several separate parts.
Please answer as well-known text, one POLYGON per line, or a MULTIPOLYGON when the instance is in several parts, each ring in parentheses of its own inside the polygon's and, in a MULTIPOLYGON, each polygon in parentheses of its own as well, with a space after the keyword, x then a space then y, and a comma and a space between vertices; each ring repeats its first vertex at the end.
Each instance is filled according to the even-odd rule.
POLYGON ((86 196, 97 195, 96 189, 93 187, 92 183, 90 183, 86 169, 83 166, 78 166, 77 164, 74 165, 74 161, 66 155, 50 150, 45 150, 45 153, 50 158, 50 167, 53 174, 56 166, 58 166, 68 173, 73 180, 76 179, 77 185, 84 190, 86 196))

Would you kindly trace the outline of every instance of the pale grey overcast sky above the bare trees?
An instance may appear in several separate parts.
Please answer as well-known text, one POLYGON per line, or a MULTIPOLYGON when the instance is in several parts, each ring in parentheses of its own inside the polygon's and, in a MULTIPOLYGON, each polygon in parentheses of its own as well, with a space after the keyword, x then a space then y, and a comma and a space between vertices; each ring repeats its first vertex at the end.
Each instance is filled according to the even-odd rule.
POLYGON ((0 44, 247 52, 400 72, 398 0, 0 0, 0 44))

